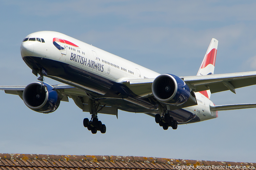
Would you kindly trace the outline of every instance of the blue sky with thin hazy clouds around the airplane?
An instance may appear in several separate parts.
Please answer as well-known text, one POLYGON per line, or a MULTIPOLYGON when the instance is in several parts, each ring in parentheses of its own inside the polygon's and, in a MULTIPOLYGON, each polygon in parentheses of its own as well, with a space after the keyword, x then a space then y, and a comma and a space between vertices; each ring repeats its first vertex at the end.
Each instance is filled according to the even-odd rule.
MULTIPOLYGON (((37 81, 20 44, 36 31, 57 31, 158 73, 193 76, 212 38, 214 74, 256 70, 255 1, 1 1, 0 85, 37 81)), ((45 78, 45 82, 56 84, 45 78)), ((215 105, 255 103, 255 87, 211 95, 215 105)), ((106 133, 83 127, 88 112, 72 99, 50 114, 30 110, 0 91, 0 153, 146 156, 256 162, 256 109, 220 111, 218 118, 163 130, 153 117, 100 114, 106 133)))

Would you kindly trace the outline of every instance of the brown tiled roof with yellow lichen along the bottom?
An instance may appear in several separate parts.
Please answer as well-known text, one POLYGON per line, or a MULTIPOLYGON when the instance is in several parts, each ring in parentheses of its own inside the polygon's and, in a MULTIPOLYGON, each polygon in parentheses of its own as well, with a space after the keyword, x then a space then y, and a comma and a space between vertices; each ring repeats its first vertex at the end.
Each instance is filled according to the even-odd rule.
POLYGON ((186 169, 226 169, 226 166, 230 166, 227 169, 255 169, 256 163, 138 156, 0 154, 0 170, 182 169, 179 166, 186 169))

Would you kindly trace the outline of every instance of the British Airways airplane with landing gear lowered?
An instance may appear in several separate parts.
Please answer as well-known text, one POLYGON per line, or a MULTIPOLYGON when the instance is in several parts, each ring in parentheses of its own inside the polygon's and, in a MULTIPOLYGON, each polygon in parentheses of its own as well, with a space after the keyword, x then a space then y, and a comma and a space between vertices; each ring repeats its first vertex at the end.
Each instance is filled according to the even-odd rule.
POLYGON ((93 134, 106 133, 98 113, 115 115, 118 109, 145 113, 164 130, 218 117, 218 111, 255 108, 256 103, 214 105, 210 95, 256 84, 256 71, 214 75, 218 41, 212 39, 196 76, 159 74, 90 44, 54 31, 25 37, 23 61, 38 77, 27 86, 0 86, 18 95, 36 112, 51 113, 60 101, 73 99, 83 112, 83 125, 93 134), (44 76, 63 84, 47 84, 44 76))

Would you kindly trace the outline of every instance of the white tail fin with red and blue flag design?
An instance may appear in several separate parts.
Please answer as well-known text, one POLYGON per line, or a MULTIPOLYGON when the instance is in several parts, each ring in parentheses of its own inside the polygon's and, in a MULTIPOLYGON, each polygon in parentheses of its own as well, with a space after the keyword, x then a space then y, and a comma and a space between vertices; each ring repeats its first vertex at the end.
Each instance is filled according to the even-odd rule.
MULTIPOLYGON (((218 40, 213 38, 205 54, 205 58, 203 59, 203 62, 197 72, 197 76, 213 75, 217 48, 218 48, 218 40)), ((211 96, 210 90, 201 91, 200 93, 203 94, 208 99, 210 99, 210 96, 211 96)))

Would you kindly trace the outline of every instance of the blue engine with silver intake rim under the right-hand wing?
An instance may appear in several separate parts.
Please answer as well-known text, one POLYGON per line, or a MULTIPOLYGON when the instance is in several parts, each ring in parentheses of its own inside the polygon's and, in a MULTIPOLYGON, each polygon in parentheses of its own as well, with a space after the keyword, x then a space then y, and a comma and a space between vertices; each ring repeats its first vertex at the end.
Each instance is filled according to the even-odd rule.
POLYGON ((157 76, 152 83, 152 93, 158 101, 169 105, 181 105, 190 96, 187 84, 181 78, 172 74, 157 76))

